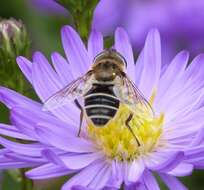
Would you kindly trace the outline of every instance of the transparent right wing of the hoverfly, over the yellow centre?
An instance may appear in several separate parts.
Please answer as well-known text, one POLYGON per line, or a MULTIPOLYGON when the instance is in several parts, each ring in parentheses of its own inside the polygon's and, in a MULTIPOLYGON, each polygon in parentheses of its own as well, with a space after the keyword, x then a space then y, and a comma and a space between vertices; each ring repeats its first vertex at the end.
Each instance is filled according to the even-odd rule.
POLYGON ((144 95, 140 92, 137 86, 125 75, 120 78, 122 84, 116 86, 115 92, 121 102, 130 106, 130 108, 140 113, 150 113, 154 117, 154 111, 145 99, 144 95))

